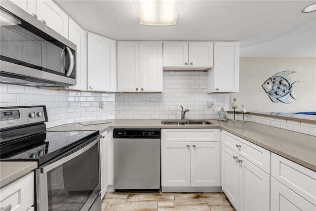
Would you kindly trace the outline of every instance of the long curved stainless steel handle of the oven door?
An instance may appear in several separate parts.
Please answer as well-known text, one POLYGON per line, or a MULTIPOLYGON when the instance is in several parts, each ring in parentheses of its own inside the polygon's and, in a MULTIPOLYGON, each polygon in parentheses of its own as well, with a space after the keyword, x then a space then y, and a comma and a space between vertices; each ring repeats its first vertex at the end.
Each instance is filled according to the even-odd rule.
POLYGON ((88 144, 87 146, 79 149, 78 151, 60 159, 57 160, 56 162, 52 163, 52 164, 48 164, 47 166, 44 166, 42 168, 40 168, 40 172, 41 173, 47 173, 48 171, 50 171, 51 169, 54 169, 58 166, 63 165, 64 163, 72 160, 73 158, 76 158, 77 156, 79 156, 80 154, 84 153, 85 151, 89 150, 93 145, 95 145, 96 143, 98 143, 98 141, 100 140, 101 135, 98 135, 98 137, 92 141, 90 144, 88 144))

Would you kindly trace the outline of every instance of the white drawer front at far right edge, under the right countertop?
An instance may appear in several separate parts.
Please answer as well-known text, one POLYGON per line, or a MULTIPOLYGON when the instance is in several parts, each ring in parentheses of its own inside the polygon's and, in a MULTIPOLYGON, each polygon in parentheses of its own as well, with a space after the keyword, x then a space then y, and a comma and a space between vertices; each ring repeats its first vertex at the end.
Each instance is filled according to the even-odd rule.
POLYGON ((316 206, 315 171, 272 153, 271 175, 316 206))

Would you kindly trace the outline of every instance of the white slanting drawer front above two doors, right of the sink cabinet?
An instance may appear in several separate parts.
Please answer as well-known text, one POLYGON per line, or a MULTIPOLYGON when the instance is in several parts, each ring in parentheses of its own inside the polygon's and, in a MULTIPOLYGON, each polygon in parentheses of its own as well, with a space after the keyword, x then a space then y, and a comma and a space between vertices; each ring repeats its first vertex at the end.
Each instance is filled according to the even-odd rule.
POLYGON ((239 155, 250 161, 258 168, 270 174, 270 154, 266 150, 256 144, 250 143, 232 133, 222 130, 223 143, 237 152, 239 155))

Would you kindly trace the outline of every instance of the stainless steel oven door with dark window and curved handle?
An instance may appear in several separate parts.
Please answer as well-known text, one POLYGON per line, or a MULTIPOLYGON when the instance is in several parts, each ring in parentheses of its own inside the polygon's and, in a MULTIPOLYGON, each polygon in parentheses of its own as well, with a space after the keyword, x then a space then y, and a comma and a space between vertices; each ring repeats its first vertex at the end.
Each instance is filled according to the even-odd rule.
POLYGON ((87 211, 100 192, 100 135, 70 155, 36 169, 37 211, 87 211))

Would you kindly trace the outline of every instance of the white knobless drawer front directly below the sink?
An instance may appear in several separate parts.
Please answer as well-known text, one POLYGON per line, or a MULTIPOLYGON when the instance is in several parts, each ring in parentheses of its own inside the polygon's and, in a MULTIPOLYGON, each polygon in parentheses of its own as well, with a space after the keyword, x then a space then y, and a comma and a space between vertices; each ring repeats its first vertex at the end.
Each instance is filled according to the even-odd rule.
POLYGON ((219 142, 219 129, 162 129, 161 142, 219 142))

